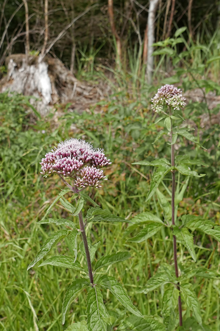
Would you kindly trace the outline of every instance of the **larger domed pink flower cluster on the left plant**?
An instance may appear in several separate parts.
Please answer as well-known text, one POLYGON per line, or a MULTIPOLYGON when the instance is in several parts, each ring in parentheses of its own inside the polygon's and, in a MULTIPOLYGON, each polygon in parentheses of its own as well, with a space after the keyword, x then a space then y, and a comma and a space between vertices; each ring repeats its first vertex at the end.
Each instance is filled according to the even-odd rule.
POLYGON ((111 164, 101 149, 94 149, 85 140, 71 138, 62 141, 57 148, 45 155, 40 162, 41 174, 44 177, 58 173, 64 177, 75 179, 76 186, 100 187, 99 180, 103 180, 102 167, 111 164))

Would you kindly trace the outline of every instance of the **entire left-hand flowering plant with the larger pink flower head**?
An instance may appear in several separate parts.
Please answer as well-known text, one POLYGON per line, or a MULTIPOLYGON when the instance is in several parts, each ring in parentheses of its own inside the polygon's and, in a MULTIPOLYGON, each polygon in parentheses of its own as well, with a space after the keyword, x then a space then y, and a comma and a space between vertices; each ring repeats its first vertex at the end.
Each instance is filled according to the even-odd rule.
POLYGON ((101 149, 94 149, 92 145, 84 140, 69 139, 58 144, 51 152, 45 155, 41 161, 41 174, 47 177, 51 174, 57 174, 66 184, 66 188, 53 201, 48 211, 60 200, 61 204, 70 212, 70 219, 45 219, 38 223, 48 224, 55 223, 58 226, 67 226, 68 229, 60 229, 49 235, 44 242, 35 259, 29 264, 28 269, 42 260, 50 253, 53 247, 63 238, 67 237, 72 248, 72 255, 50 256, 39 266, 47 264, 59 267, 70 268, 77 271, 77 278, 67 288, 63 302, 63 324, 67 309, 71 302, 77 298, 83 289, 87 289, 87 327, 81 324, 80 330, 88 328, 89 331, 106 331, 109 323, 109 313, 104 305, 102 289, 108 289, 119 302, 131 313, 142 317, 140 311, 132 304, 123 286, 112 276, 107 274, 101 278, 96 274, 97 270, 104 268, 113 263, 118 263, 130 258, 128 252, 117 252, 110 255, 102 256, 94 263, 95 252, 100 244, 91 244, 87 240, 85 227, 89 222, 128 222, 122 217, 111 215, 108 211, 102 210, 87 194, 82 193, 86 188, 101 187, 100 183, 106 180, 103 168, 111 164, 101 149), (72 193, 70 202, 64 198, 68 192, 72 193), (85 200, 92 203, 95 207, 90 208, 87 215, 83 218, 82 208, 85 200), (79 219, 79 228, 73 222, 72 216, 79 219), (70 229, 71 230, 70 230, 70 229), (78 237, 82 236, 82 245, 79 245, 82 255, 85 257, 87 268, 77 260, 78 254, 78 237))

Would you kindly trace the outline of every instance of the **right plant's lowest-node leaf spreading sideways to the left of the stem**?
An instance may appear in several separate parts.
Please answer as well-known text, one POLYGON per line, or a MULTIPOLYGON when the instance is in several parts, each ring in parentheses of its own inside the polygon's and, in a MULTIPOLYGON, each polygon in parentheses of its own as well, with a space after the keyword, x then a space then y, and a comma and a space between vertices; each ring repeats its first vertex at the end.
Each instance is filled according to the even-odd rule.
POLYGON ((138 290, 137 293, 147 294, 148 292, 155 290, 157 287, 167 283, 177 283, 176 277, 172 275, 171 272, 172 271, 170 271, 168 267, 161 265, 156 274, 147 281, 147 285, 138 290))

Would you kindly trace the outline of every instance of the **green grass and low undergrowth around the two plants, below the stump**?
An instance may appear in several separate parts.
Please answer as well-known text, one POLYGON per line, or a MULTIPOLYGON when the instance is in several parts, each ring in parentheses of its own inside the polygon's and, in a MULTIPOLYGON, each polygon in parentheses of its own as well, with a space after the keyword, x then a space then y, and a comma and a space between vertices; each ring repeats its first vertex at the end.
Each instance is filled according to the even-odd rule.
MULTIPOLYGON (((66 315, 62 326, 62 302, 66 288, 74 278, 80 277, 72 270, 54 266, 43 266, 27 271, 27 266, 40 249, 50 233, 58 229, 55 225, 39 225, 36 222, 47 217, 69 217, 68 212, 57 203, 52 211, 46 212, 52 199, 63 188, 57 176, 47 179, 40 174, 41 158, 59 141, 69 137, 91 141, 94 147, 105 149, 112 165, 106 170, 109 180, 99 190, 91 191, 92 198, 103 209, 127 218, 142 211, 161 215, 157 200, 145 203, 150 186, 152 167, 133 166, 132 163, 143 159, 170 157, 169 147, 158 141, 152 144, 162 122, 155 124, 156 115, 150 110, 150 94, 140 94, 139 98, 125 92, 115 93, 110 102, 103 101, 97 109, 83 113, 65 113, 59 118, 59 127, 52 116, 39 119, 27 111, 27 101, 19 95, 8 97, 0 95, 1 144, 0 144, 0 329, 7 331, 39 330, 60 331, 75 321, 85 319, 86 292, 75 300, 66 315), (114 97, 114 98, 113 98, 114 97), (99 107, 99 108, 98 108, 99 107), (72 129, 71 125, 76 129, 72 129), (26 291, 26 292, 25 292, 26 291), (30 297, 28 297, 28 294, 30 297), (29 301, 28 301, 29 298, 29 301), (33 315, 36 312, 37 319, 33 315)), ((214 110, 214 111, 218 111, 214 110)), ((186 107, 185 116, 195 120, 204 109, 198 105, 186 107)), ((205 109, 205 112, 207 110, 205 109)), ((210 141, 218 139, 219 128, 203 132, 201 141, 209 148, 210 141), (215 135, 214 135, 215 134, 215 135)), ((199 139, 199 137, 198 137, 199 139)), ((206 176, 199 181, 190 181, 179 213, 203 214, 214 217, 219 224, 219 152, 218 144, 208 154, 205 150, 179 141, 179 154, 188 153, 192 158, 205 161, 207 168, 200 172, 206 176), (210 203, 208 201, 211 201, 210 203)), ((184 178, 180 177, 180 182, 184 178)), ((167 176, 164 180, 170 182, 167 176)), ((162 186, 161 186, 162 189, 162 186)), ((66 196, 66 198, 68 198, 66 196)), ((85 206, 83 213, 89 206, 85 206)), ((77 225, 77 218, 73 221, 77 225)), ((161 321, 160 310, 162 293, 165 287, 147 295, 137 294, 160 263, 173 263, 172 233, 169 229, 161 231, 141 244, 129 243, 130 237, 124 235, 127 228, 122 224, 89 224, 87 235, 93 243, 101 241, 95 261, 103 254, 128 250, 131 259, 109 266, 107 272, 119 280, 126 288, 132 302, 142 314, 152 315, 161 321)), ((204 265, 219 270, 219 252, 216 241, 196 234, 195 244, 198 260, 196 266, 204 265)), ((52 255, 71 255, 67 239, 58 244, 52 255)), ((79 253, 79 260, 85 263, 79 253)), ((188 266, 189 254, 184 247, 178 246, 179 265, 188 266)), ((95 263, 94 261, 94 263, 95 263)), ((101 269, 98 274, 106 271, 101 269)), ((219 281, 192 279, 201 306, 204 323, 213 331, 219 330, 219 281)), ((110 312, 108 331, 116 330, 121 320, 128 316, 120 303, 109 293, 103 295, 110 312)), ((184 319, 190 323, 191 312, 183 304, 184 319)))

